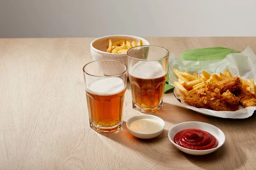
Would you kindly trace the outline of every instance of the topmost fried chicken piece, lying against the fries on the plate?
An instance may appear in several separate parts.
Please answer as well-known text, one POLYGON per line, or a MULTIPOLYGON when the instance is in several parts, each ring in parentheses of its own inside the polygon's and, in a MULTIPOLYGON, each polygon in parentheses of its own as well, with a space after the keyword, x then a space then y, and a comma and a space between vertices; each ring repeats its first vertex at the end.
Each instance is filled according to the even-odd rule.
POLYGON ((210 92, 214 92, 214 90, 218 88, 220 89, 220 94, 223 94, 227 90, 230 92, 238 90, 242 87, 242 82, 239 77, 234 77, 232 79, 227 79, 216 83, 206 82, 206 85, 210 92))

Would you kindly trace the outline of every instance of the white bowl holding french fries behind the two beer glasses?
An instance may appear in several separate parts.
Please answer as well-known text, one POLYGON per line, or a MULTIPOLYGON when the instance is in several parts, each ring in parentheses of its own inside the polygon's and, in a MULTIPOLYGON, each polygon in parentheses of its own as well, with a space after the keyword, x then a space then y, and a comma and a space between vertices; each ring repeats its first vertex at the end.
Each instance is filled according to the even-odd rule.
POLYGON ((128 40, 130 42, 135 41, 139 42, 139 40, 142 40, 143 45, 149 45, 149 42, 141 37, 131 36, 131 35, 109 35, 106 37, 97 38, 96 40, 93 40, 90 43, 90 51, 91 56, 93 60, 100 60, 100 59, 112 59, 117 60, 120 62, 125 63, 125 65, 128 65, 127 63, 127 54, 113 54, 113 53, 107 53, 107 45, 108 40, 111 39, 112 42, 118 41, 118 40, 128 40))

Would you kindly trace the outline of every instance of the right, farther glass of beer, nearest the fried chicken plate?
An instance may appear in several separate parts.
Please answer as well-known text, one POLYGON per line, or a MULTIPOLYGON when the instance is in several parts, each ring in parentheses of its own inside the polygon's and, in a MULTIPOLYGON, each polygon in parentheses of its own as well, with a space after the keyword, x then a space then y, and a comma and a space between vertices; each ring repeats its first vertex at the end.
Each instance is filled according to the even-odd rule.
POLYGON ((169 51, 154 45, 141 45, 130 48, 127 54, 133 108, 140 112, 162 109, 169 51))

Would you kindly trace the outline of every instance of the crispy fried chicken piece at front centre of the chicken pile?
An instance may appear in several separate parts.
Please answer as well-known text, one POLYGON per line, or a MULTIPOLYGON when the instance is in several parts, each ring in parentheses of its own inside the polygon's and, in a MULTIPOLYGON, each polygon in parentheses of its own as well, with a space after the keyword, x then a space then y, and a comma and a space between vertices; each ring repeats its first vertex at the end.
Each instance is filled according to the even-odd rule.
POLYGON ((204 88, 198 89, 200 91, 201 101, 209 105, 215 111, 236 111, 238 110, 237 105, 229 105, 221 95, 219 95, 220 89, 215 89, 212 93, 210 91, 206 91, 204 88), (206 95, 201 95, 206 94, 206 95))

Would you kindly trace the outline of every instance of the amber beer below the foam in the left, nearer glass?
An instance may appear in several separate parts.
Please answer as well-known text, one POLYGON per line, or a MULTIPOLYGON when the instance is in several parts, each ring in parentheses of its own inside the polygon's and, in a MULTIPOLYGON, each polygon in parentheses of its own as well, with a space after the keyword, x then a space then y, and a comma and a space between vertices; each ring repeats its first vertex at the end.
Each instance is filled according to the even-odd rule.
POLYGON ((118 94, 101 96, 86 91, 91 126, 115 127, 122 122, 125 90, 118 94))

